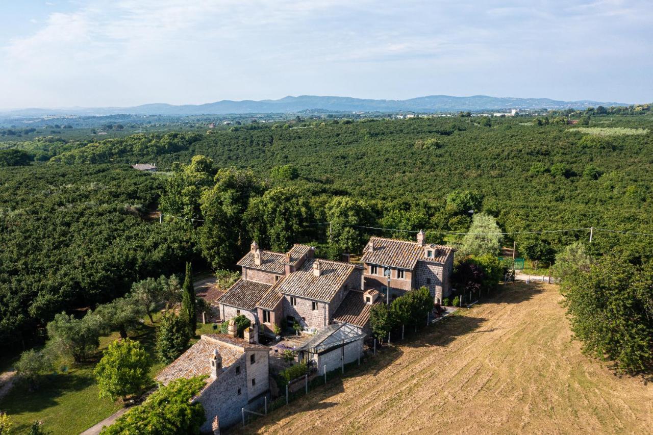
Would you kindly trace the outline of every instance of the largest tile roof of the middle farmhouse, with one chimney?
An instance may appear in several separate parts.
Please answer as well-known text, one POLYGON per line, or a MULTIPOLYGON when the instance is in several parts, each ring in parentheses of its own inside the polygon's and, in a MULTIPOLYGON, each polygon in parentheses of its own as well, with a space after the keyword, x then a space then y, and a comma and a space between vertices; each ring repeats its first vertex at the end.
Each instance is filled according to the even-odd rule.
POLYGON ((306 259, 300 268, 278 283, 277 289, 279 293, 329 302, 354 268, 355 265, 351 263, 306 259), (320 262, 322 268, 320 276, 313 274, 315 261, 320 262))

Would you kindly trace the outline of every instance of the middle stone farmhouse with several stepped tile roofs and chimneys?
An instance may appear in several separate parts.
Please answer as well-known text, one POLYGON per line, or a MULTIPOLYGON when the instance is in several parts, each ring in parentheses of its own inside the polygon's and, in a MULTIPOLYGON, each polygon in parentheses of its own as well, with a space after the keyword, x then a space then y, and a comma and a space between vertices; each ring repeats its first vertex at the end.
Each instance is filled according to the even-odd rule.
POLYGON ((311 246, 287 253, 261 250, 256 242, 238 261, 242 278, 217 299, 222 319, 245 315, 273 334, 274 325, 327 327, 351 290, 362 288, 362 266, 316 259, 311 246))

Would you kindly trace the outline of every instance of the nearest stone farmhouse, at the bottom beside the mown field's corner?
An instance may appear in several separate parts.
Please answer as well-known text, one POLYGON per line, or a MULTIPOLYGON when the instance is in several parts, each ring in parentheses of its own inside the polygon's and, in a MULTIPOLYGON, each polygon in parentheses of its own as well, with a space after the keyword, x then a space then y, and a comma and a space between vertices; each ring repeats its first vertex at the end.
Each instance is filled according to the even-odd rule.
POLYGON ((175 379, 208 376, 204 389, 193 398, 206 411, 202 433, 219 433, 219 428, 238 423, 241 409, 261 406, 270 391, 270 347, 256 342, 252 328, 244 331, 244 338, 237 333, 231 321, 228 334, 202 335, 155 378, 167 385, 175 379))

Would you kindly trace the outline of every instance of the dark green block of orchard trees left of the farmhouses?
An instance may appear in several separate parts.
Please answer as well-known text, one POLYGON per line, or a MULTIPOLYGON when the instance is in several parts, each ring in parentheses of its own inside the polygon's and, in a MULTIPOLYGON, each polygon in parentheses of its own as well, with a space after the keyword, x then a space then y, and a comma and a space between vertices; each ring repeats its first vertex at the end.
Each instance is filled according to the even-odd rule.
POLYGON ((143 219, 160 189, 161 180, 126 166, 3 168, 3 344, 31 338, 61 310, 121 296, 135 280, 181 272, 194 255, 192 227, 143 219))

